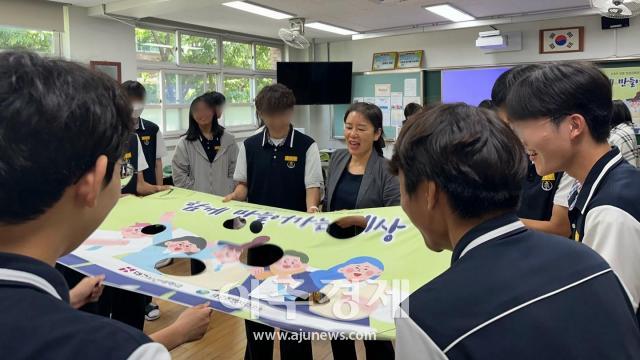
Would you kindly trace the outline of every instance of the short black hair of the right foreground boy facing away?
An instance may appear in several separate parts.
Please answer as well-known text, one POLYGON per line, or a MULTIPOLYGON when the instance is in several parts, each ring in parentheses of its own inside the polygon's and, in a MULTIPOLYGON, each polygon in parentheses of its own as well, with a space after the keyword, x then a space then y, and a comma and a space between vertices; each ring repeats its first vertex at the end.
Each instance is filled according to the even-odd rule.
POLYGON ((391 159, 412 196, 434 181, 461 218, 518 206, 526 159, 522 143, 495 112, 463 103, 440 105, 407 122, 391 159))

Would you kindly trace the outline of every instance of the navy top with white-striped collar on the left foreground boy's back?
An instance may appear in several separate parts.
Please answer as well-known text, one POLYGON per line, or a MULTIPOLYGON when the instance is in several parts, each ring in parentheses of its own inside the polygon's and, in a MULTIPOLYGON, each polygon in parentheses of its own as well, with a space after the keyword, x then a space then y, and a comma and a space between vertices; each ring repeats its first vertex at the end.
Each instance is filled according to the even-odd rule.
POLYGON ((133 327, 71 307, 66 282, 53 267, 7 253, 0 253, 0 267, 3 359, 170 358, 133 327))

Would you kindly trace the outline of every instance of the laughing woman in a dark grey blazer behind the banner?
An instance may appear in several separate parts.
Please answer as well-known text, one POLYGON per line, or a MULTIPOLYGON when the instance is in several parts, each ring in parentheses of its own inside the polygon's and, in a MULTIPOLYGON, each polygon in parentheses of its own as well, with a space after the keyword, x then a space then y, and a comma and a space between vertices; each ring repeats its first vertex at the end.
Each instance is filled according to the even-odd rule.
MULTIPOLYGON (((387 160, 382 155, 385 143, 380 108, 368 103, 351 105, 344 114, 344 138, 347 148, 331 155, 324 209, 400 205, 398 178, 389 173, 387 160)), ((351 226, 335 229, 341 233, 339 238, 349 237, 349 232, 351 236, 356 233, 351 226)), ((391 341, 364 341, 364 347, 369 360, 393 358, 391 341)), ((331 349, 335 359, 356 359, 354 341, 332 340, 331 349)))

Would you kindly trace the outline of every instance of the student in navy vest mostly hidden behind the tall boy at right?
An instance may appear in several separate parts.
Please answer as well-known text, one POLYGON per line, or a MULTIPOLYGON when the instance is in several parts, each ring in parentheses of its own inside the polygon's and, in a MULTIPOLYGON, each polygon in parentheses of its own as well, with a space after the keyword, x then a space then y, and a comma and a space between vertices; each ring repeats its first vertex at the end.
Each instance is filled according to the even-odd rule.
MULTIPOLYGON (((540 65, 520 65, 504 72, 493 85, 491 103, 498 116, 509 123, 507 96, 513 85, 538 69, 540 65)), ((521 151, 524 152, 524 149, 521 151)), ((529 161, 527 176, 522 182, 518 216, 531 229, 569 237, 569 192, 575 183, 571 176, 559 171, 536 173, 536 166, 529 161)))

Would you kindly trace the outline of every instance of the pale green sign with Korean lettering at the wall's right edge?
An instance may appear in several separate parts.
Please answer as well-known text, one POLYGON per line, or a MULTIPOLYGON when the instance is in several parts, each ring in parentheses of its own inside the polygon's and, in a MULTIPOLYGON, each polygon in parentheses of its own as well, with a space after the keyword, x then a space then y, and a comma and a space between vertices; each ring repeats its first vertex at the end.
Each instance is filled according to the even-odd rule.
POLYGON ((613 100, 622 100, 631 110, 634 122, 640 122, 640 67, 602 69, 609 77, 613 100))

